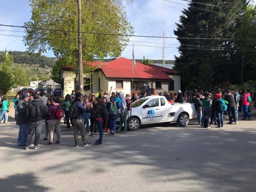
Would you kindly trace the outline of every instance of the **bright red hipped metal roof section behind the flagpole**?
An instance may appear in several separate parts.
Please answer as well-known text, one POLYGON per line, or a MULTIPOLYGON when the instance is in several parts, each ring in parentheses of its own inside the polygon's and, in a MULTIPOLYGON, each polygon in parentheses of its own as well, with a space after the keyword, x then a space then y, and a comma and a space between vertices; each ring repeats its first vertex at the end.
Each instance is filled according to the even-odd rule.
MULTIPOLYGON (((119 57, 99 67, 106 78, 132 78, 132 60, 119 57)), ((159 67, 156 65, 145 65, 136 62, 133 66, 133 78, 135 79, 171 79, 166 73, 179 73, 178 71, 159 67)))

